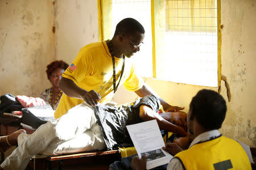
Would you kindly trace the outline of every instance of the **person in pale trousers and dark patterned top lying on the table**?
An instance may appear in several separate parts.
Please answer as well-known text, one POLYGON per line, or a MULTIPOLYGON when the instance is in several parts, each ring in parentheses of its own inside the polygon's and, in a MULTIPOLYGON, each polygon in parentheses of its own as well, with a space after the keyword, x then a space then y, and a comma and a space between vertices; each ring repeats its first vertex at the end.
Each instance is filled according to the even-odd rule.
POLYGON ((57 120, 41 125, 32 134, 18 130, 1 137, 0 150, 5 151, 16 144, 18 147, 5 159, 0 169, 25 169, 30 158, 36 154, 61 155, 133 146, 126 125, 153 119, 156 119, 160 129, 185 136, 186 114, 159 114, 159 108, 160 101, 154 95, 139 98, 133 105, 120 107, 100 103, 96 107, 79 104, 57 120))

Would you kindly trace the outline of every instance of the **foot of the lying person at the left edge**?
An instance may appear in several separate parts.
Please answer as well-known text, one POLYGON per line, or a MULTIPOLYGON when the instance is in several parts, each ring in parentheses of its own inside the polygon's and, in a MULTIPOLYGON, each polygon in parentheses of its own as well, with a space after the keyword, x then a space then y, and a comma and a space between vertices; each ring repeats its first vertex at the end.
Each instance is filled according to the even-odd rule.
POLYGON ((18 136, 21 133, 26 133, 26 130, 19 129, 17 131, 14 131, 14 133, 0 137, 0 151, 5 152, 10 147, 17 145, 18 143, 18 136))

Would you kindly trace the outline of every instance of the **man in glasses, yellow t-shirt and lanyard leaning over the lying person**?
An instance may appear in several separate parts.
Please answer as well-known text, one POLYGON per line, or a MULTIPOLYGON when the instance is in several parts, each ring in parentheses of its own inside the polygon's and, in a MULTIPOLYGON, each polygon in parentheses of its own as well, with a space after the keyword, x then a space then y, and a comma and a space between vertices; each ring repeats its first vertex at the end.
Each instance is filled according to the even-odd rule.
MULTIPOLYGON (((105 104, 113 97, 119 84, 124 84, 127 90, 134 91, 140 97, 158 96, 136 74, 130 58, 139 51, 143 39, 144 28, 141 23, 133 18, 126 18, 117 24, 112 40, 84 46, 60 80, 59 88, 64 94, 56 109, 55 118, 84 102, 91 106, 95 106, 97 102, 105 104)), ((159 100, 164 111, 183 109, 173 107, 160 97, 159 100)), ((180 134, 185 135, 181 128, 180 134)))

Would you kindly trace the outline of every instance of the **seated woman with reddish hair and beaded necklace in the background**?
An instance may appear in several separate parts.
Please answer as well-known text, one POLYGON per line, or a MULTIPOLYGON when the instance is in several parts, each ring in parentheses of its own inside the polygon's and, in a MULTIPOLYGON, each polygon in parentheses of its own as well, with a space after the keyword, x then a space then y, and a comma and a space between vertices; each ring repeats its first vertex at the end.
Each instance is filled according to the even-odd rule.
POLYGON ((68 64, 64 61, 53 61, 47 66, 47 78, 52 84, 51 88, 44 90, 40 96, 46 104, 50 104, 55 110, 59 104, 62 91, 59 89, 59 82, 61 79, 61 74, 68 68, 68 64))

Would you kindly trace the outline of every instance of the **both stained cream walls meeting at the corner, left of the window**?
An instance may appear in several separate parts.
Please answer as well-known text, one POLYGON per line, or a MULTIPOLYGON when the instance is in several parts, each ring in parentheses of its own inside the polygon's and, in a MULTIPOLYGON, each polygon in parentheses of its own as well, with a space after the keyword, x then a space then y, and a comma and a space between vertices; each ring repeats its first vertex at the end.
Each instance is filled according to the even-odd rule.
POLYGON ((0 95, 39 96, 50 62, 71 63, 95 41, 97 1, 0 1, 0 95))

